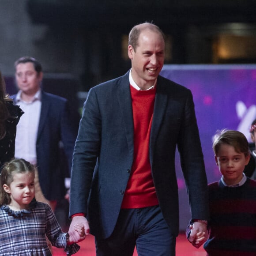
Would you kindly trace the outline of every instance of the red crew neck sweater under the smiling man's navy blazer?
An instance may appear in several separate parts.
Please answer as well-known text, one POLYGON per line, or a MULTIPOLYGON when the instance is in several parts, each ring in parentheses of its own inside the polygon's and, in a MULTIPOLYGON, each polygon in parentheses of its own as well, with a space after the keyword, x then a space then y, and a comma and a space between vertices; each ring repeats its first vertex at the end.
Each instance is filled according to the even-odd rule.
POLYGON ((134 160, 121 208, 142 208, 158 204, 149 161, 149 139, 156 87, 131 88, 134 123, 134 160))

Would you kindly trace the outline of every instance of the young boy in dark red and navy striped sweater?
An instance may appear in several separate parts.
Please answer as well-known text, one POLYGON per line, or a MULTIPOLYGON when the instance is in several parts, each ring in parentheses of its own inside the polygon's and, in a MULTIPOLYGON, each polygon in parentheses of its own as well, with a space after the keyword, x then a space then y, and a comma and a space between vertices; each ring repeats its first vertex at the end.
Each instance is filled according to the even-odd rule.
MULTIPOLYGON (((243 173, 250 160, 246 137, 238 131, 222 130, 214 137, 215 161, 222 177, 209 188, 209 238, 203 245, 208 256, 256 255, 256 181, 243 173)), ((192 222, 187 229, 189 239, 192 222)), ((191 241, 200 247, 204 234, 191 241)))

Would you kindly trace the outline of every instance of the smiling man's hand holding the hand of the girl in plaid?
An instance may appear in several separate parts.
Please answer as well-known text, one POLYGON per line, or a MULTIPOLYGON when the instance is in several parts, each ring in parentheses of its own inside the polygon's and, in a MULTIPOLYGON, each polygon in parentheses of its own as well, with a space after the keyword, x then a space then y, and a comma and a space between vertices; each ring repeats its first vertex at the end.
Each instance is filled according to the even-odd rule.
POLYGON ((74 216, 68 230, 70 241, 75 243, 83 241, 89 233, 90 227, 87 218, 84 216, 74 216))

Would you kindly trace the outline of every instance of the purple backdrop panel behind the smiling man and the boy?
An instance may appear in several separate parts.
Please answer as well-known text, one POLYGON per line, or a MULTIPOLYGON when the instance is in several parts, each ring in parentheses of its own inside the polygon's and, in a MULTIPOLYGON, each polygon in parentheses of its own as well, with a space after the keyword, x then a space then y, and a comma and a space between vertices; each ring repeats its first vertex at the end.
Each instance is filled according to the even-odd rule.
MULTIPOLYGON (((256 118, 256 65, 165 65, 161 75, 192 91, 208 182, 221 175, 211 148, 216 130, 239 130, 250 141, 249 127, 256 118)), ((191 149, 193 150, 193 149, 191 149)), ((190 218, 188 198, 177 156, 180 229, 190 218)))

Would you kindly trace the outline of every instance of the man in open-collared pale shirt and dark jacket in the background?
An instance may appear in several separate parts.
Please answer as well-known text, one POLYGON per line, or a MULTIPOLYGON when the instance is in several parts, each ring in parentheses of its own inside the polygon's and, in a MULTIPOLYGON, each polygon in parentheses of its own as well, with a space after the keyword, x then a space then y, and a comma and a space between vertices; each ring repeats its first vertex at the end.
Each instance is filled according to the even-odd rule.
MULTIPOLYGON (((15 157, 38 167, 41 192, 54 210, 66 194, 64 179, 69 173, 65 169, 71 170, 78 123, 66 99, 41 90, 43 72, 38 60, 21 57, 15 69, 19 91, 12 98, 25 112, 17 126, 15 157)), ((37 199, 42 200, 41 196, 37 199)))

